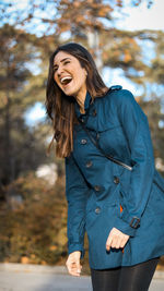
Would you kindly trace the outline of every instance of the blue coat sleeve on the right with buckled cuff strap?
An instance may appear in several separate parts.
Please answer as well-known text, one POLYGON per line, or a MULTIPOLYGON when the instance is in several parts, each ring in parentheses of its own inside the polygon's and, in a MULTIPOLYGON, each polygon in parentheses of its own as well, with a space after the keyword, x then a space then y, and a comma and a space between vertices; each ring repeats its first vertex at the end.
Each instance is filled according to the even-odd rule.
MULTIPOLYGON (((131 153, 132 171, 128 191, 122 193, 124 209, 116 228, 134 237, 137 229, 130 226, 137 217, 142 223, 154 175, 154 155, 148 118, 129 90, 120 90, 115 99, 117 113, 131 153)), ((128 171, 128 170, 125 170, 128 171)))

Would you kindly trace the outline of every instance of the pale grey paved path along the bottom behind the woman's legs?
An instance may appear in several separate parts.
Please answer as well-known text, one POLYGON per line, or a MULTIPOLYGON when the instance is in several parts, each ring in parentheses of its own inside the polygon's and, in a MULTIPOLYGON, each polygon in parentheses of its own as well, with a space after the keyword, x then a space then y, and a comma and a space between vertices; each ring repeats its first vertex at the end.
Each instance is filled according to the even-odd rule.
MULTIPOLYGON (((0 291, 92 291, 91 277, 51 271, 0 270, 0 291)), ((164 291, 164 280, 153 279, 150 291, 164 291)))

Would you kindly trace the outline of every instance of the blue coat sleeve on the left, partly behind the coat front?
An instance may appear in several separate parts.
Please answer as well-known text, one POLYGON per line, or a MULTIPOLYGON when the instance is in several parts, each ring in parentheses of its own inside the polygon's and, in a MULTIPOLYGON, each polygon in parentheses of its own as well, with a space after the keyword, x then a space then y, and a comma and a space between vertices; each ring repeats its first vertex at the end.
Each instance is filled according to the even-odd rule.
POLYGON ((68 202, 68 253, 81 251, 82 258, 84 256, 85 204, 89 186, 72 154, 65 158, 65 166, 68 202))

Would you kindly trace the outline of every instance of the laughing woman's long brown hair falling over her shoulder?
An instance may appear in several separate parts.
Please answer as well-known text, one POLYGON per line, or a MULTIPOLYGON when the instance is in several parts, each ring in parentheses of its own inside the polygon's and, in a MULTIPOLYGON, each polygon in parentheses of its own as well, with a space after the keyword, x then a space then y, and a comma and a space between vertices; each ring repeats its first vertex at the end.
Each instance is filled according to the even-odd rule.
POLYGON ((91 53, 81 45, 69 43, 59 46, 51 54, 46 90, 47 114, 52 120, 54 126, 54 137, 49 148, 54 140, 56 140, 56 156, 63 158, 68 157, 73 150, 73 124, 78 121, 74 112, 74 97, 65 95, 54 80, 54 59, 59 51, 65 51, 75 57, 81 66, 86 70, 86 88, 92 101, 95 97, 103 96, 108 88, 98 74, 91 53))

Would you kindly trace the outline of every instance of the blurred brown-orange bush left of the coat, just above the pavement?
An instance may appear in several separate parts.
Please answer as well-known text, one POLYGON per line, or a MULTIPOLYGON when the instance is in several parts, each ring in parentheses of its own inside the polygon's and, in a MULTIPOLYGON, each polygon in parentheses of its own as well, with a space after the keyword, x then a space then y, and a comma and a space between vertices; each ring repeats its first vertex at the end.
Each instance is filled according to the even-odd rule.
POLYGON ((0 211, 0 260, 56 264, 67 253, 67 204, 62 179, 56 191, 33 172, 9 185, 23 197, 0 211))

